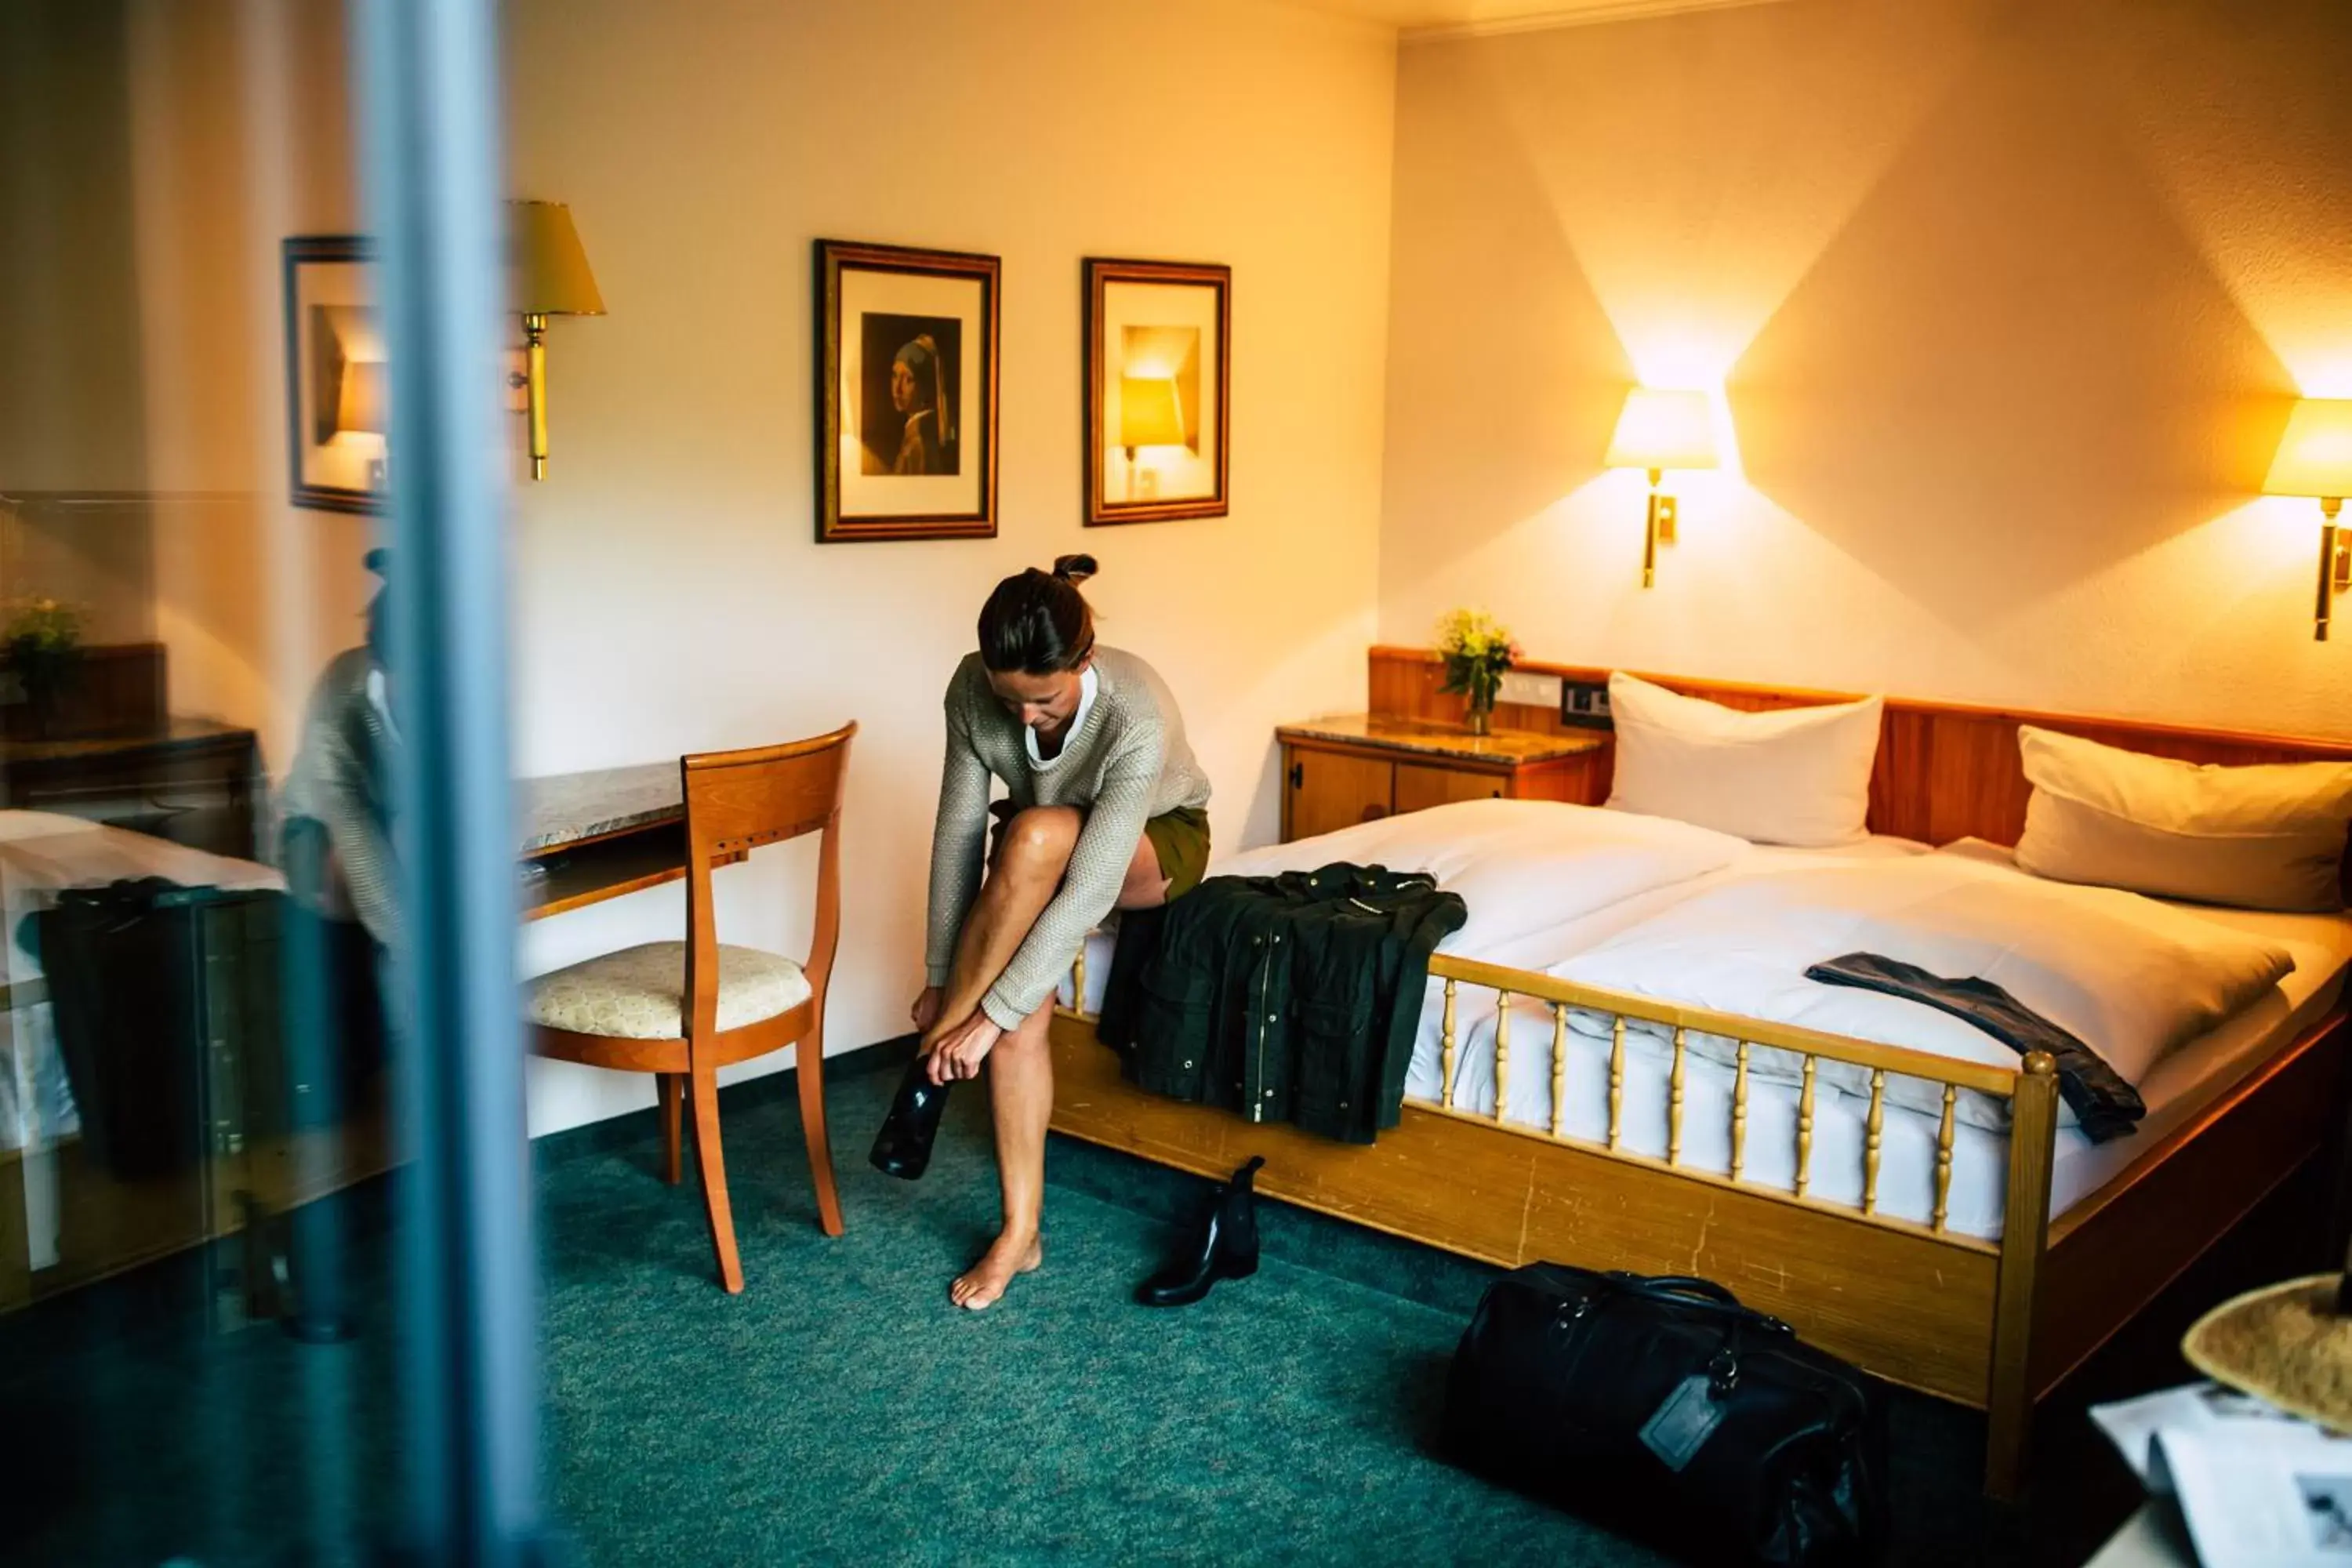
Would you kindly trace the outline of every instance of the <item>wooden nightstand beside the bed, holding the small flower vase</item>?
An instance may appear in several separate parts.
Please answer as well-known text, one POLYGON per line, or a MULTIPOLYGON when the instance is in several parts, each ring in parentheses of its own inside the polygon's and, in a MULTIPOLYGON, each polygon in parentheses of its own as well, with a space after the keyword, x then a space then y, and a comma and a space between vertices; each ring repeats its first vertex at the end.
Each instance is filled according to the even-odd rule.
POLYGON ((1458 799, 1597 804, 1606 736, 1541 736, 1348 715, 1284 724, 1282 842, 1458 799))

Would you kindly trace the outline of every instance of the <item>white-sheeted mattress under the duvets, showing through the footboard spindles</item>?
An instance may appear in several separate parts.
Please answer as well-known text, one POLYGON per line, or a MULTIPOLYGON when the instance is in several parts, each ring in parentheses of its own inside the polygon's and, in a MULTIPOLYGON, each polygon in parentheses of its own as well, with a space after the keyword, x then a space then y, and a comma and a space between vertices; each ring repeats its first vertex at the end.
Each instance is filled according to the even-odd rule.
MULTIPOLYGON (((1752 846, 1731 865, 1677 882, 1670 886, 1635 893, 1592 914, 1559 926, 1498 943, 1475 957, 1510 969, 1545 969, 1585 947, 1592 947, 1628 926, 1658 914, 1675 903, 1700 891, 1722 886, 1736 877, 1788 870, 1790 865, 1820 863, 1835 858, 1882 858, 1929 853, 1924 844, 1910 839, 1875 837, 1839 849, 1776 849, 1752 846)), ((1997 846, 1962 846, 1962 853, 2006 856, 1997 846)), ((2310 1025, 2324 1018, 2340 999, 2345 971, 2352 966, 2352 917, 2347 914, 2263 914, 2246 910, 2216 910, 2204 905, 2178 905, 2201 919, 2218 922, 2234 931, 2260 936, 2284 945, 2296 969, 2253 1006, 2223 1020, 2178 1051, 2169 1053, 2138 1084, 2147 1103, 2147 1117, 2131 1138, 2093 1145, 2074 1126, 2058 1131, 2056 1166, 2051 1175, 2051 1213, 2065 1213, 2072 1204, 2098 1192, 2119 1175, 2140 1150, 2164 1138, 2171 1128, 2194 1117, 2216 1095, 2225 1093, 2249 1067, 2265 1060, 2310 1025)), ((1087 943, 1087 994, 1084 1009, 1101 1006, 1103 983, 1110 973, 1108 933, 1094 933, 1087 943)), ((1442 992, 1430 985, 1423 1009, 1421 1032, 1414 1046, 1414 1063, 1406 1077, 1406 1098, 1437 1103, 1442 1091, 1442 992)), ((1063 1004, 1070 1004, 1073 987, 1063 983, 1063 1004)), ((1456 1110, 1494 1117, 1494 992, 1484 987, 1458 987, 1456 994, 1456 1110)), ((1628 1034, 1625 1084, 1621 1107, 1621 1150, 1663 1159, 1668 1143, 1668 1093, 1672 1053, 1658 1041, 1628 1034)), ((1731 1171, 1731 1086, 1733 1072, 1708 1063, 1696 1053, 1684 1060, 1684 1119, 1679 1164, 1712 1175, 1731 1171)), ((1792 1084, 1778 1084, 1750 1074, 1748 1086, 1748 1135, 1743 1145, 1740 1182, 1795 1190, 1797 1166, 1797 1098, 1792 1084)), ((1508 1119, 1512 1124, 1552 1128, 1552 1023, 1550 1009, 1519 999, 1512 1009, 1510 1067, 1508 1067, 1508 1119)), ((1863 1194, 1863 1147, 1867 1138, 1867 1100, 1844 1093, 1816 1093, 1813 1150, 1809 1161, 1806 1194, 1830 1204, 1858 1206, 1863 1194)), ((1609 1046, 1569 1032, 1566 1048, 1566 1095, 1562 1107, 1562 1131, 1571 1140, 1604 1143, 1609 1131, 1609 1046)), ((1882 1119, 1879 1140, 1879 1213, 1929 1222, 1933 1213, 1936 1182, 1936 1135, 1938 1117, 1919 1114, 1889 1103, 1882 1119)), ((1952 1185, 1947 1192, 1945 1222, 1966 1237, 1997 1239, 2006 1204, 2009 1135, 2004 1131, 1959 1124, 1952 1145, 1952 1185)))

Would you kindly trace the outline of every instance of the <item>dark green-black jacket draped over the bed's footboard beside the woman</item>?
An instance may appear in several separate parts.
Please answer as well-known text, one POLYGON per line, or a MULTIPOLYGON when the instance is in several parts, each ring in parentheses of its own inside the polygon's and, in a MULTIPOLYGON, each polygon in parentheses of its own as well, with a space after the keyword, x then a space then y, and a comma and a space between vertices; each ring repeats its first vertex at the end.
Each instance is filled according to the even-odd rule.
POLYGON ((1397 1126, 1430 954, 1470 919, 1425 875, 1211 877, 1120 917, 1098 1034, 1127 1079, 1343 1143, 1397 1126))

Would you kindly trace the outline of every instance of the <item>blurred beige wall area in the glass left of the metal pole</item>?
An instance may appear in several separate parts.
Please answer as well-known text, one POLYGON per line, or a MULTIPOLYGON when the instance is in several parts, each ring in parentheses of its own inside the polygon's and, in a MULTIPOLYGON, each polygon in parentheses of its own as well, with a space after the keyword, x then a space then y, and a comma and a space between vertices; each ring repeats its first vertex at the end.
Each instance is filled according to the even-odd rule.
POLYGON ((285 475, 280 240, 350 233, 341 0, 0 0, 0 599, 162 639, 282 776, 369 520, 285 475))

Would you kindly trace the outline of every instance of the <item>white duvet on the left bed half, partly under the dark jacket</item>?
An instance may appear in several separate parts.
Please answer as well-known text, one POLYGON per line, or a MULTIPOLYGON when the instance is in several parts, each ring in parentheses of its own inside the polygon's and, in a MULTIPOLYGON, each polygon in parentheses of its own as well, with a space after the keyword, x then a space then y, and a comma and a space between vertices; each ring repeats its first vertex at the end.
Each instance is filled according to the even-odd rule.
POLYGON ((1312 872, 1336 860, 1428 872, 1468 924, 1439 952, 1479 957, 1621 898, 1722 870, 1745 839, 1661 816, 1541 799, 1465 799, 1214 860, 1211 877, 1312 872))

